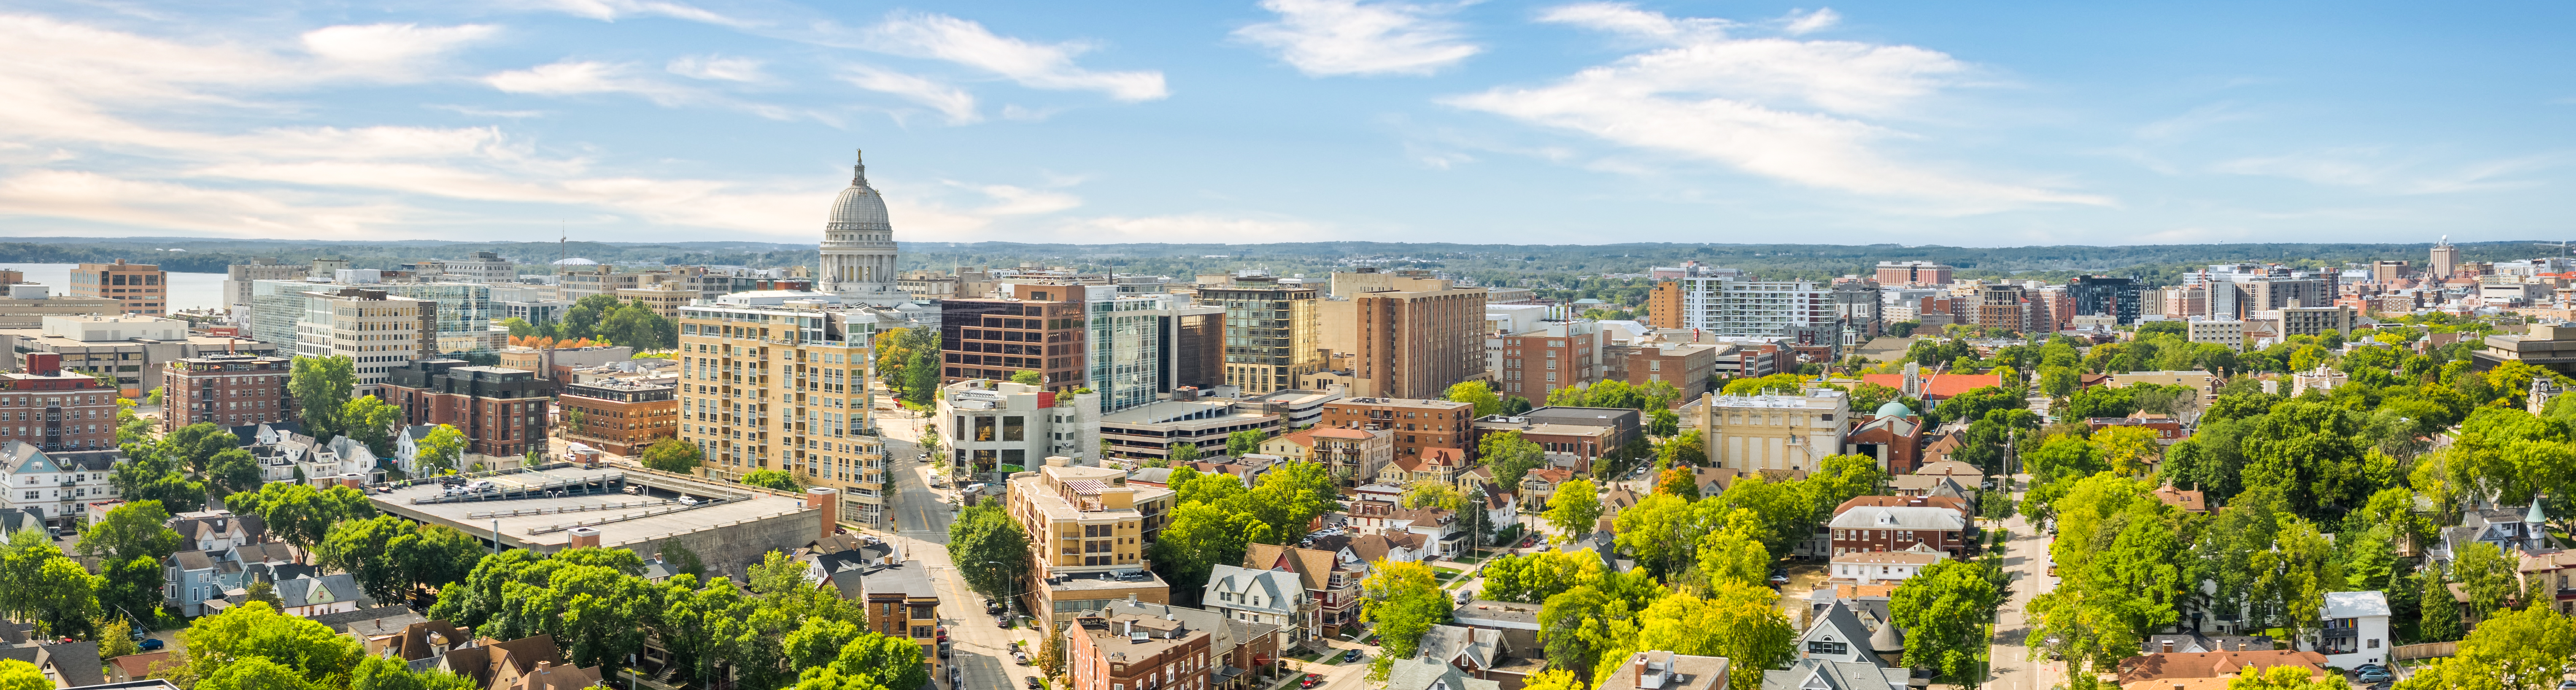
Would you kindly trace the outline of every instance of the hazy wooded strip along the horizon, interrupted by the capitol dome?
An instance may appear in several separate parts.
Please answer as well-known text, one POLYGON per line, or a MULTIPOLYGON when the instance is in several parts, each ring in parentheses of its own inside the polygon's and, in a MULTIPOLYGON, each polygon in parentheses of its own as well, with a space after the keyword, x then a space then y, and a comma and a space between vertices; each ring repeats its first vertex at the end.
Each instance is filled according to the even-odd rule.
MULTIPOLYGON (((2463 260, 2522 260, 2558 255, 2543 242, 2468 242, 2463 260)), ((1074 265, 1139 275, 1195 275, 1242 268, 1321 275, 1358 265, 1435 268, 1489 286, 1569 288, 1605 286, 1597 275, 1646 273, 1654 265, 1700 260, 1741 268, 1762 278, 1868 275, 1880 260, 1932 260, 1960 268, 1960 278, 2066 281, 2084 273, 2138 275, 2148 283, 2177 283, 2210 263, 2285 263, 2324 268, 2367 260, 2409 260, 2421 265, 2432 245, 2130 245, 2130 247, 1904 247, 1904 245, 1448 245, 1448 242, 1283 242, 1283 245, 1023 245, 1023 242, 902 242, 902 268, 948 270, 958 265, 1074 265)), ((250 257, 309 263, 345 257, 355 268, 397 268, 430 257, 497 252, 523 265, 556 257, 649 265, 814 265, 814 245, 775 242, 296 242, 296 239, 206 239, 206 237, 28 237, 0 242, 8 263, 160 263, 167 270, 224 273, 224 265, 250 257), (170 252, 185 250, 185 252, 170 252)), ((1610 286, 1623 281, 1607 281, 1610 286)))

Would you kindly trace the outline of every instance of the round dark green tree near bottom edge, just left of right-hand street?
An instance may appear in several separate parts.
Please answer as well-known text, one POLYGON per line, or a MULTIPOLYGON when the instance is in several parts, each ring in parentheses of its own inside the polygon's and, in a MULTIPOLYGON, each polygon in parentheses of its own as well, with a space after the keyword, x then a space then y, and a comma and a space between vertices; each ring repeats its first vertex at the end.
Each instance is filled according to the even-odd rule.
POLYGON ((1968 677, 1986 654, 1986 620, 1994 620, 2004 592, 1984 564, 1940 561, 1888 595, 1888 615, 1906 631, 1906 667, 1940 669, 1942 677, 1968 677))

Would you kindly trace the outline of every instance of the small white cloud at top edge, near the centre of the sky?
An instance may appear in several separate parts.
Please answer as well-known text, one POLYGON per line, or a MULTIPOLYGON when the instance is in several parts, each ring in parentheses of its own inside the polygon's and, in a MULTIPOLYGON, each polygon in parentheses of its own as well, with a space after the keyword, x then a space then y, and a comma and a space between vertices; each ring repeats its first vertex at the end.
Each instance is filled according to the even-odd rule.
POLYGON ((1309 77, 1432 75, 1481 51, 1458 28, 1435 21, 1443 8, 1358 0, 1262 0, 1278 21, 1234 36, 1275 49, 1309 77))

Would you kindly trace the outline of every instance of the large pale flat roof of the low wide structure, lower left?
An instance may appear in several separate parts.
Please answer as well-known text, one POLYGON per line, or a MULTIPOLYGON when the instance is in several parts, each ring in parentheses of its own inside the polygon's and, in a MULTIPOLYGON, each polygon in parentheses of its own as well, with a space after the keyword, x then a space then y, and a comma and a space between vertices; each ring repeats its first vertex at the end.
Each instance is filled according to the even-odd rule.
POLYGON ((677 502, 667 502, 662 497, 621 494, 611 487, 605 494, 415 502, 415 499, 438 499, 446 494, 446 487, 438 487, 435 481, 422 481, 410 487, 394 484, 397 489, 392 494, 368 494, 368 502, 374 502, 376 510, 392 515, 459 528, 479 538, 492 538, 492 525, 497 520, 502 543, 518 548, 541 548, 541 551, 562 548, 564 543, 569 543, 572 525, 598 528, 600 546, 623 546, 623 543, 654 541, 672 533, 703 530, 708 525, 729 525, 729 523, 778 518, 806 510, 801 497, 781 497, 752 487, 696 481, 670 474, 641 474, 641 471, 631 474, 623 469, 556 466, 541 471, 484 474, 469 479, 489 479, 502 489, 611 481, 611 484, 641 484, 665 494, 675 492, 698 499, 711 499, 711 497, 742 497, 742 499, 677 510, 683 507, 677 502))

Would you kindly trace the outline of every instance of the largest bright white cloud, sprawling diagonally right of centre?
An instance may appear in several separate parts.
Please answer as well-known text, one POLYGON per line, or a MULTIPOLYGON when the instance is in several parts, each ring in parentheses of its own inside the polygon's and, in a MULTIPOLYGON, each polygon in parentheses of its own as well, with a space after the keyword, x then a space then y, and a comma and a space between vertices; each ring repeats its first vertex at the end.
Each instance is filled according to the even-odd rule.
POLYGON ((1445 103, 1602 142, 1721 162, 1811 188, 1909 198, 1942 214, 2030 203, 2110 203, 2043 185, 1989 183, 1883 152, 1891 118, 1968 72, 1917 46, 1731 39, 1726 23, 1628 5, 1569 5, 1553 23, 1618 31, 1667 46, 1589 67, 1553 85, 1494 88, 1445 103))

